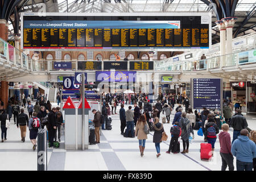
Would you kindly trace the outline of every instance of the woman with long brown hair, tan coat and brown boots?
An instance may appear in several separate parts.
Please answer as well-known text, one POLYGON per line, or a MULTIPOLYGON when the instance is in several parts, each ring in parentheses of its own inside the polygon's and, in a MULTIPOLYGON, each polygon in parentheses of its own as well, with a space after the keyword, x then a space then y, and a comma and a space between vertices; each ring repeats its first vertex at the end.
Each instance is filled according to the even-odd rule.
POLYGON ((147 134, 144 131, 145 127, 147 127, 147 130, 149 130, 144 115, 140 115, 136 123, 135 136, 137 136, 139 140, 139 151, 141 152, 141 156, 144 155, 143 152, 145 149, 145 143, 147 139, 147 134))

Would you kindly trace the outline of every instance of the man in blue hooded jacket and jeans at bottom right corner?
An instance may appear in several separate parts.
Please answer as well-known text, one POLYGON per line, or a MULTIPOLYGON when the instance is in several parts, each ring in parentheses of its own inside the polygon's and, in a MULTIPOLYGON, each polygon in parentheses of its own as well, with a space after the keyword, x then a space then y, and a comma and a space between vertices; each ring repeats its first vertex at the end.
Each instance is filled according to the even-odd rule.
POLYGON ((237 171, 253 171, 253 158, 256 158, 256 145, 249 139, 249 131, 242 129, 234 140, 231 152, 237 158, 237 171))

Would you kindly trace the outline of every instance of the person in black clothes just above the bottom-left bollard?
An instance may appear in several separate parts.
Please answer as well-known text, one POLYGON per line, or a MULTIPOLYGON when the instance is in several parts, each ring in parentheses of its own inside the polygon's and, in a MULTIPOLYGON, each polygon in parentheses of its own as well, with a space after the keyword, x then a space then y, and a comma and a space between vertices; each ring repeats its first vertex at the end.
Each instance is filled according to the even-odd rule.
POLYGON ((55 132, 57 129, 57 118, 56 118, 56 108, 52 107, 51 112, 49 112, 48 114, 48 136, 49 136, 49 147, 52 148, 53 147, 53 139, 55 137, 55 132))

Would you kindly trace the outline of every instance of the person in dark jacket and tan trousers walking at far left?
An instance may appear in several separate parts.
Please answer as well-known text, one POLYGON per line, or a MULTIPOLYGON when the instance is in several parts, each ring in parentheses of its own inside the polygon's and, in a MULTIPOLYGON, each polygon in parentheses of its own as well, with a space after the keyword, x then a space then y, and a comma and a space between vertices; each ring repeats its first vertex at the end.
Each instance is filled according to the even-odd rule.
POLYGON ((17 128, 20 129, 21 140, 25 142, 26 133, 28 127, 28 115, 24 113, 24 109, 20 109, 20 114, 18 115, 17 128))

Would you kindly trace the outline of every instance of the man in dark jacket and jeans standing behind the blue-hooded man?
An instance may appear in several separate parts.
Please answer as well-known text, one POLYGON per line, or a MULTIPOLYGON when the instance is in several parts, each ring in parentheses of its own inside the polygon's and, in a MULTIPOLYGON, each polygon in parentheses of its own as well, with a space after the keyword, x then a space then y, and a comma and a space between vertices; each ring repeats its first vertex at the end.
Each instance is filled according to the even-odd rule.
POLYGON ((242 115, 242 111, 240 109, 236 109, 236 113, 237 114, 233 115, 230 121, 230 126, 234 129, 232 144, 234 140, 236 140, 237 137, 240 136, 240 131, 248 127, 246 118, 242 115))

